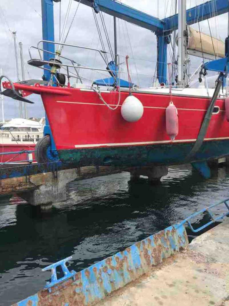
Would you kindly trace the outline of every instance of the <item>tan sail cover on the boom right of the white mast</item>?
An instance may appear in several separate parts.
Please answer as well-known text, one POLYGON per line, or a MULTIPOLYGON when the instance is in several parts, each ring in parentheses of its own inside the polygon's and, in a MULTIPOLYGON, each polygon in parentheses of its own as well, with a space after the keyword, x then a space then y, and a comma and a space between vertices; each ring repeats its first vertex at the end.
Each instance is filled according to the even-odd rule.
POLYGON ((189 54, 202 57, 203 52, 204 58, 207 59, 215 59, 215 55, 216 58, 225 57, 225 44, 220 39, 216 39, 205 33, 198 32, 190 26, 187 26, 187 33, 187 50, 189 54))

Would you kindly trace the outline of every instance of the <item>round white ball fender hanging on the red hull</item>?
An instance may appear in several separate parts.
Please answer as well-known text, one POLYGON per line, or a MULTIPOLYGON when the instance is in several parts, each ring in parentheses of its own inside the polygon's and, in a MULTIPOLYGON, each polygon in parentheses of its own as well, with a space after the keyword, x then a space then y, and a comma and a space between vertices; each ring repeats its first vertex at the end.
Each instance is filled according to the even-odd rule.
POLYGON ((128 122, 136 122, 142 118, 144 112, 143 105, 139 99, 129 95, 121 107, 122 118, 128 122))

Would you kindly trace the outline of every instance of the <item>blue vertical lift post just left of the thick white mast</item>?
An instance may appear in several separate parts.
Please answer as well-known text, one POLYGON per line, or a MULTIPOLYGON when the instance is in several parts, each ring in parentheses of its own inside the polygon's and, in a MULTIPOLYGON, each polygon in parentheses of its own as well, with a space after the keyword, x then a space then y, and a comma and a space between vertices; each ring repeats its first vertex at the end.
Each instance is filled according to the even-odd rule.
POLYGON ((157 77, 158 82, 167 83, 167 38, 165 36, 157 36, 157 77))

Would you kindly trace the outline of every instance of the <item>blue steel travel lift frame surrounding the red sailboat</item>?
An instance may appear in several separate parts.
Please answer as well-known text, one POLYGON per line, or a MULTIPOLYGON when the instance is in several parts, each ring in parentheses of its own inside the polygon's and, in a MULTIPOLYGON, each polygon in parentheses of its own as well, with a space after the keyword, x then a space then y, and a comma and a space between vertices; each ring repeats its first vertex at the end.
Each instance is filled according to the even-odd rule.
MULTIPOLYGON (((60 2, 60 0, 41 0, 42 2, 42 34, 44 40, 54 41, 54 17, 53 17, 53 1, 60 2)), ((79 0, 75 0, 78 1, 79 0)), ((117 1, 113 0, 81 0, 82 4, 93 7, 96 13, 100 10, 111 16, 118 17, 125 21, 136 24, 142 28, 151 30, 157 35, 157 77, 159 83, 167 83, 167 44, 170 43, 170 33, 178 28, 178 14, 167 17, 160 20, 156 17, 143 13, 139 10, 133 9, 132 7, 126 6, 117 1)), ((210 0, 208 2, 202 3, 186 12, 187 24, 194 24, 198 20, 203 21, 205 19, 211 18, 214 14, 221 15, 227 13, 229 10, 229 1, 225 0, 210 0)), ((55 53, 54 44, 43 43, 43 49, 55 53)), ((228 54, 227 54, 228 56, 228 54)), ((49 54, 44 52, 44 59, 49 60, 49 54)), ((224 61, 226 62, 226 68, 224 71, 228 71, 228 57, 227 59, 220 60, 220 64, 224 61)), ((214 61, 213 61, 214 62, 214 61)), ((210 62, 206 64, 206 69, 211 69, 212 66, 216 67, 216 64, 210 62)), ((50 72, 44 70, 44 79, 49 80, 50 72)), ((45 135, 50 135, 51 137, 51 153, 56 156, 56 146, 53 140, 52 132, 49 127, 49 122, 46 118, 46 125, 44 129, 45 135)), ((202 174, 205 177, 209 177, 209 169, 207 169, 207 164, 203 167, 202 164, 202 174), (205 170, 203 170, 203 168, 205 170)), ((199 167, 197 167, 199 168, 199 167)))

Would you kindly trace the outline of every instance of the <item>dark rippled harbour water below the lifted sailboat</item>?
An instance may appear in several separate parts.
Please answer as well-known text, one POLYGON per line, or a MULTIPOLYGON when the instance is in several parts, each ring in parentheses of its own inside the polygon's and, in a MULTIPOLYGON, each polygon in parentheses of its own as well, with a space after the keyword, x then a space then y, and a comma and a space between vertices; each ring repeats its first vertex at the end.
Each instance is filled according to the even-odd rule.
POLYGON ((80 271, 225 199, 228 186, 225 168, 204 180, 176 167, 156 186, 130 182, 129 173, 72 182, 67 201, 48 214, 0 198, 0 305, 43 288, 50 277, 43 267, 72 255, 71 270, 80 271))

